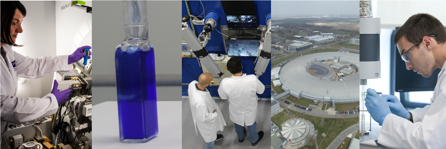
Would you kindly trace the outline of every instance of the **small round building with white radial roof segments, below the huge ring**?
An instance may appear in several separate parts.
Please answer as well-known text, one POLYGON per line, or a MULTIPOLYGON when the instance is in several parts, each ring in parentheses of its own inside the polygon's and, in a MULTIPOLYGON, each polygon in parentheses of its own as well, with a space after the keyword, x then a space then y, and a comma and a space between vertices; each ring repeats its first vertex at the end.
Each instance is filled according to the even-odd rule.
POLYGON ((291 141, 291 146, 305 146, 307 140, 313 136, 314 124, 301 118, 293 118, 286 120, 281 124, 282 136, 291 141))

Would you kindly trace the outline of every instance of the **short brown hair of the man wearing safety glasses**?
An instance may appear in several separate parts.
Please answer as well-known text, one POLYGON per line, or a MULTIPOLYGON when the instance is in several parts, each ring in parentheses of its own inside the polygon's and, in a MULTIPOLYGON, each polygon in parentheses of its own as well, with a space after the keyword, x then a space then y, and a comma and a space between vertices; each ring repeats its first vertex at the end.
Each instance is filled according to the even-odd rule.
MULTIPOLYGON (((418 13, 409 17, 407 21, 396 30, 393 43, 396 44, 401 37, 406 37, 407 41, 416 44, 425 36, 435 34, 433 37, 438 44, 446 42, 446 28, 437 18, 427 13, 418 13)), ((417 45, 419 47, 420 44, 417 45)))

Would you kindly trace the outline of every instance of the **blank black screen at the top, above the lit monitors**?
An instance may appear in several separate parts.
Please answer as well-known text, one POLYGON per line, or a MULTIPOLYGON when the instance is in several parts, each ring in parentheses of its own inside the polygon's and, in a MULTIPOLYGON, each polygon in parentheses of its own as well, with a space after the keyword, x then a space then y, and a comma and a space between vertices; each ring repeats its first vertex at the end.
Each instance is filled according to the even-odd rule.
POLYGON ((254 0, 222 0, 224 13, 256 14, 254 0))

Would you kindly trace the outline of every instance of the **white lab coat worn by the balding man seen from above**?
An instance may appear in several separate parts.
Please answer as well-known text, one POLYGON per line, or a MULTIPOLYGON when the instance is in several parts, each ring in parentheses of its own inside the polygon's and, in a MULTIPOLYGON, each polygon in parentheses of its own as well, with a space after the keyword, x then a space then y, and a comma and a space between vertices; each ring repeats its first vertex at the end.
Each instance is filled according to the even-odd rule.
POLYGON ((198 135, 198 127, 204 141, 209 143, 217 139, 217 131, 223 131, 223 126, 226 126, 226 122, 223 119, 219 106, 212 99, 209 91, 197 90, 195 87, 196 83, 198 81, 192 81, 187 90, 189 93, 190 111, 192 111, 196 135, 198 135), (215 110, 217 111, 214 112, 215 110))

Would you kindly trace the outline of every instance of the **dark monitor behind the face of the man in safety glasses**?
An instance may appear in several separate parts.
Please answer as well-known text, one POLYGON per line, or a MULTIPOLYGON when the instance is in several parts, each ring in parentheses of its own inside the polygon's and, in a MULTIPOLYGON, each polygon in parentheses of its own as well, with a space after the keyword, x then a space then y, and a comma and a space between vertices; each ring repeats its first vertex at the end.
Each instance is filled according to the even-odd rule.
MULTIPOLYGON (((396 29, 398 29, 397 27, 396 29)), ((395 29, 395 30, 396 30, 395 29)), ((393 36, 395 33, 393 33, 393 36)), ((391 42, 393 42, 393 36, 391 42)), ((408 91, 434 91, 435 85, 437 85, 438 73, 441 69, 435 69, 429 78, 424 78, 418 75, 413 70, 407 70, 405 62, 401 59, 398 48, 393 46, 392 52, 395 52, 395 91, 396 92, 408 92, 408 91)))

